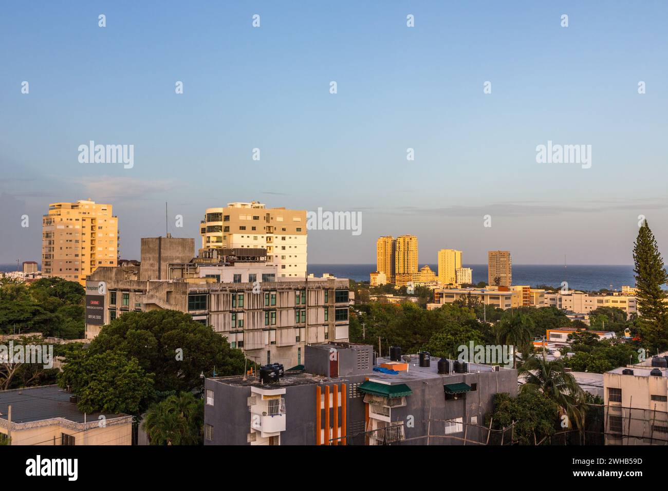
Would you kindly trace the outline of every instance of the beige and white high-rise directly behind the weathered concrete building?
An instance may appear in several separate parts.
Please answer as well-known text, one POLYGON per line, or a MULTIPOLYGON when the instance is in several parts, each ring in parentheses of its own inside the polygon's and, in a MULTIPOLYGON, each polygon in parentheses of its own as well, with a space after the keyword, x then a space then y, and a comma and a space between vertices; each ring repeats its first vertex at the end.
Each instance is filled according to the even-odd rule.
POLYGON ((202 249, 267 249, 267 263, 283 278, 305 278, 306 210, 267 208, 252 201, 206 208, 200 226, 202 249))

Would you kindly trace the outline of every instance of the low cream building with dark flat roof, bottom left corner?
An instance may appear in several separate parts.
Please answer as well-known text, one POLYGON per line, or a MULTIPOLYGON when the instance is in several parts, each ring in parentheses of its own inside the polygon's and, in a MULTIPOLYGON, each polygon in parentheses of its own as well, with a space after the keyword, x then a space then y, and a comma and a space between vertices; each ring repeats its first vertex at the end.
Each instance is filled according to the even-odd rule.
POLYGON ((0 391, 0 440, 11 445, 132 444, 132 416, 83 414, 76 402, 57 385, 0 391))

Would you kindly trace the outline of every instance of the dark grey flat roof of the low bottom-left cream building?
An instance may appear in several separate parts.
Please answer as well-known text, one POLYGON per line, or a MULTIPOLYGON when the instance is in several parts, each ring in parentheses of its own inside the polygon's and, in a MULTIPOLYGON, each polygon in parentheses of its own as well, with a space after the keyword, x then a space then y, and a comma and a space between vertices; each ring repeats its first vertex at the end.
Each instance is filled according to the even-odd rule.
MULTIPOLYGON (((7 420, 7 407, 11 405, 12 424, 51 420, 53 418, 63 418, 71 422, 83 423, 84 415, 79 412, 75 403, 69 401, 70 395, 72 394, 57 385, 0 391, 0 419, 7 420)), ((96 421, 101 414, 88 414, 86 421, 96 421)), ((128 415, 105 414, 104 416, 111 420, 128 415)))

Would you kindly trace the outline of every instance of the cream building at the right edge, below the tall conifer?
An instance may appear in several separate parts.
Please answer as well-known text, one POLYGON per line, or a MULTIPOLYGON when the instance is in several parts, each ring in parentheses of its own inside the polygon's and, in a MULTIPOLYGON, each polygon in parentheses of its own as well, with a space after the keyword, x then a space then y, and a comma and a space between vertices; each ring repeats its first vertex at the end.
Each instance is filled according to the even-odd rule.
POLYGON ((606 445, 668 444, 666 355, 603 374, 606 445))

